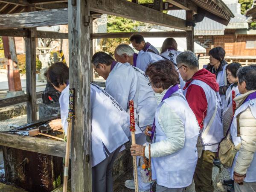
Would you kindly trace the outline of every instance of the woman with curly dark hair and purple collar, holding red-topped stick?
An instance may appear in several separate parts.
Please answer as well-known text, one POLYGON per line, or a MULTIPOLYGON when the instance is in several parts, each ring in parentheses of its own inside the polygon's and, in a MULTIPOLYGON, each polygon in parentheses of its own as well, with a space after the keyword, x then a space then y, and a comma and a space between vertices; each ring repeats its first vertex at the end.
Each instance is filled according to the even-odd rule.
POLYGON ((179 75, 170 61, 150 64, 146 74, 158 103, 154 124, 145 131, 151 137, 151 145, 131 145, 131 155, 145 159, 150 153, 156 192, 183 192, 192 183, 198 159, 199 126, 178 86, 179 75))

